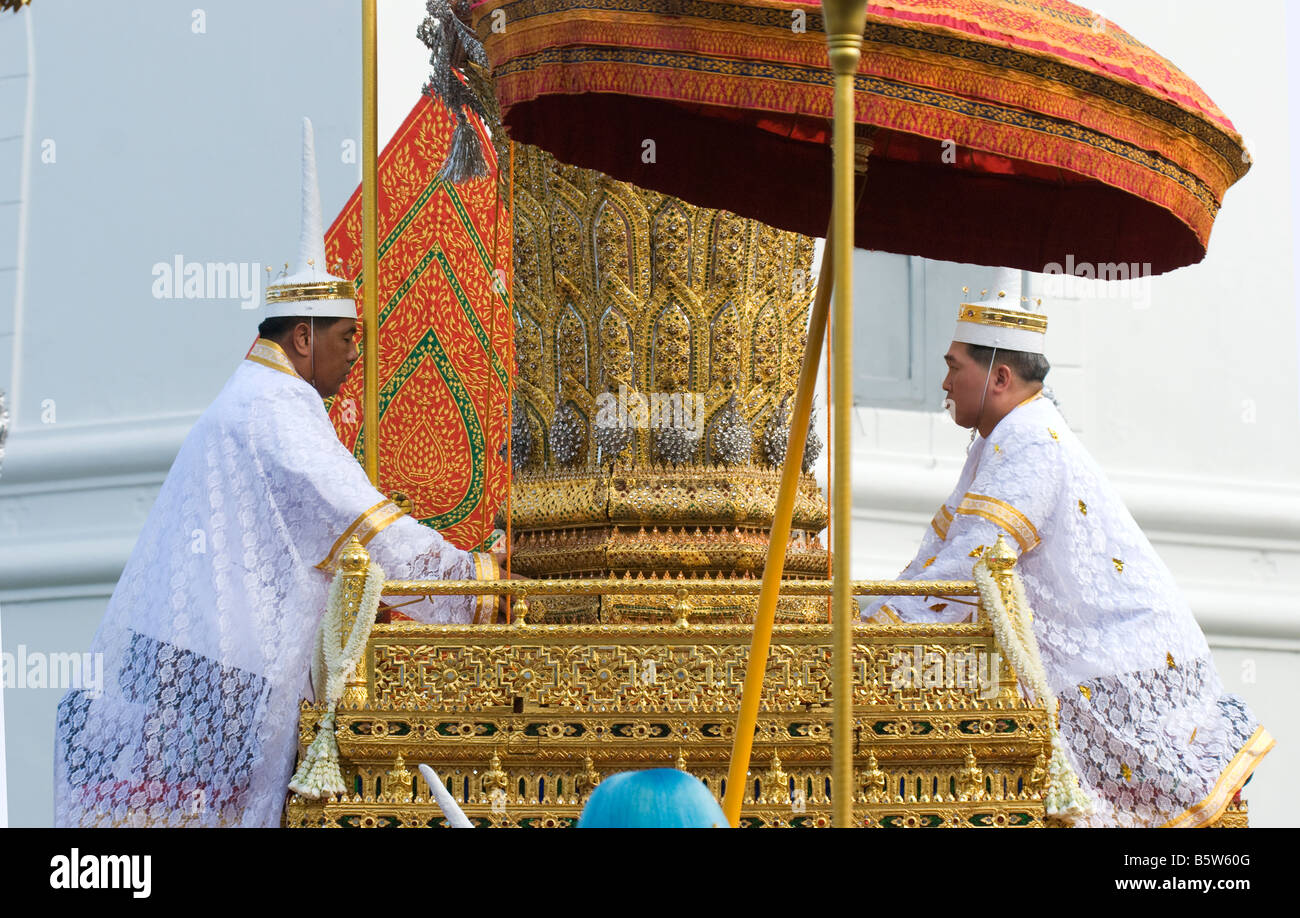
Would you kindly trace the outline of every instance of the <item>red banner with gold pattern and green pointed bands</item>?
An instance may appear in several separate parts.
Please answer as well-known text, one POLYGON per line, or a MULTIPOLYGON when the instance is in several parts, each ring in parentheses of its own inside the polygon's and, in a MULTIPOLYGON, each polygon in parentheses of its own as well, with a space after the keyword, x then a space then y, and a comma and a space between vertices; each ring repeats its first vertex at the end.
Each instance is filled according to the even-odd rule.
MULTIPOLYGON (((463 549, 482 546, 510 488, 512 385, 508 181, 437 178, 455 121, 428 96, 380 155, 380 490, 463 549)), ((508 172, 508 166, 507 166, 508 172)), ((508 176, 507 176, 508 178, 508 176)), ((329 264, 361 277, 361 190, 325 234, 329 264)), ((339 439, 364 459, 361 361, 330 404, 339 439)))

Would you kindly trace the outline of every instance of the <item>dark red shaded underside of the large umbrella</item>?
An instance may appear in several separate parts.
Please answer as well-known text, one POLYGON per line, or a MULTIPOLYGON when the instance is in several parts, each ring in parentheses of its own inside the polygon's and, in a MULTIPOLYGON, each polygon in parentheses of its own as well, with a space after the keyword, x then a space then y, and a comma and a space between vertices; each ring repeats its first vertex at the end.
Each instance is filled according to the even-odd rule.
MULTIPOLYGON (((714 108, 588 92, 517 103, 506 126, 515 140, 641 187, 807 235, 827 230, 824 120, 764 116, 758 125, 714 108), (642 139, 654 140, 653 163, 642 159, 642 139)), ((857 209, 859 248, 1035 272, 1067 260, 1122 261, 1154 274, 1205 255, 1171 212, 1119 189, 971 150, 952 150, 956 161, 945 163, 944 152, 930 138, 875 134, 857 209), (1014 231, 1004 231, 1009 225, 1014 231)))

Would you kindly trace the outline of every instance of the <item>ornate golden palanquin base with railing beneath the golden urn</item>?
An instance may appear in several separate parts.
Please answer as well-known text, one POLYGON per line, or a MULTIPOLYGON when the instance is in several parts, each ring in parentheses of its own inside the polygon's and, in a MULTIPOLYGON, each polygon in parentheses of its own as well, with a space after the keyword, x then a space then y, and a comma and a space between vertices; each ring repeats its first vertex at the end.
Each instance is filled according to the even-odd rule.
MULTIPOLYGON (((364 577, 364 567, 347 576, 364 577)), ((344 783, 355 793, 291 797, 289 826, 445 824, 407 763, 432 765, 480 826, 573 824, 599 780, 628 768, 684 768, 722 796, 750 628, 694 624, 690 615, 692 594, 734 584, 511 588, 673 592, 677 618, 549 625, 525 612, 511 625, 376 625, 364 674, 359 667, 338 709, 344 783)), ((458 589, 493 586, 394 581, 386 593, 458 589)), ((975 593, 974 584, 864 581, 855 589, 975 593)), ((790 590, 824 594, 828 583, 790 590)), ((517 612, 523 606, 517 599, 517 612)), ((1048 713, 1020 698, 991 627, 859 625, 854 637, 859 824, 1045 824, 1048 713)), ((829 644, 826 624, 781 624, 774 633, 744 824, 829 824, 829 644)), ((303 748, 322 714, 304 706, 303 748)))

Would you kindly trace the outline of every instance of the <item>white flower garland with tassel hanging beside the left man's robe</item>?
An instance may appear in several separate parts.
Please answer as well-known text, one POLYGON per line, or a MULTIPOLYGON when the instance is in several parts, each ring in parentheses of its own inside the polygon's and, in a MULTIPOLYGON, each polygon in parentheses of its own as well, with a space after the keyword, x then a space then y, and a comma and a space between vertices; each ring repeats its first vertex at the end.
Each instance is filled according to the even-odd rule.
POLYGON ((316 636, 316 655, 312 659, 312 685, 317 687, 316 701, 324 701, 329 713, 320 719, 316 739, 307 748, 307 754, 289 781, 289 789, 303 797, 318 800, 325 794, 346 793, 343 772, 338 766, 338 737, 335 736, 335 707, 343 697, 343 684, 361 658, 365 642, 374 627, 374 614, 380 607, 380 593, 384 589, 384 568, 372 563, 365 571, 365 584, 358 603, 356 619, 347 642, 342 644, 343 632, 343 571, 334 575, 329 588, 329 601, 325 603, 325 616, 321 619, 316 636))

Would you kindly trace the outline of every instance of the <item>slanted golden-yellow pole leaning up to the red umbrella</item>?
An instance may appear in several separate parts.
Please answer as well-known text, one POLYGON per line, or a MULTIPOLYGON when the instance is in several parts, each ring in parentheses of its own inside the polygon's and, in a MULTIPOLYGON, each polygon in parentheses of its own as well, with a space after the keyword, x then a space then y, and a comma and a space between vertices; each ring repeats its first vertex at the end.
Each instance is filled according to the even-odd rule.
POLYGON ((767 564, 763 567, 763 586, 758 593, 758 612, 754 616, 754 637, 749 645, 745 664, 745 693, 741 696, 736 736, 732 739, 731 767, 727 771, 727 796, 723 813, 733 827, 740 827, 740 807, 745 800, 746 774, 754 748, 754 726, 758 723, 758 702, 763 696, 763 676, 767 674, 767 651, 772 644, 772 624, 776 622, 776 599, 785 568, 785 549, 790 542, 790 518, 798 494, 800 471, 803 466, 803 445, 809 434, 809 416, 812 413, 812 390, 816 387, 816 368, 822 361, 822 341, 826 337, 826 313, 831 304, 831 270, 835 257, 831 248, 833 233, 827 230, 826 248, 822 251, 822 270, 818 276, 812 312, 809 316, 809 337, 803 346, 803 364, 800 384, 794 390, 794 413, 790 417, 785 464, 781 467, 781 488, 776 493, 776 511, 772 532, 767 542, 767 564))

